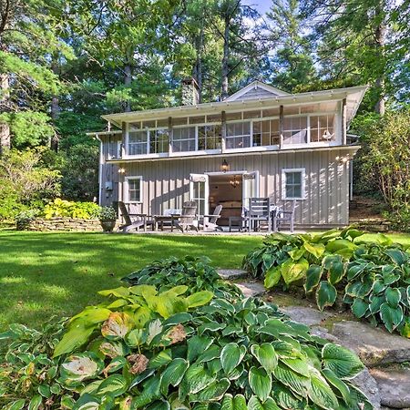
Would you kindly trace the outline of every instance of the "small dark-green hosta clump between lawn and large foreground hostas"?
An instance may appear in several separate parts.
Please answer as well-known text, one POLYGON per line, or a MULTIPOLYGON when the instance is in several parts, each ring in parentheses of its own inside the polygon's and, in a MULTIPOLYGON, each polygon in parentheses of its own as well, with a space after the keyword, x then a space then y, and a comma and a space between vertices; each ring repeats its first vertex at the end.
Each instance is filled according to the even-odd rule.
POLYGON ((237 299, 242 296, 235 285, 220 279, 220 275, 210 265, 206 257, 170 257, 154 261, 137 272, 129 273, 122 279, 131 285, 149 284, 168 290, 173 286, 186 285, 188 292, 210 291, 218 297, 237 299))

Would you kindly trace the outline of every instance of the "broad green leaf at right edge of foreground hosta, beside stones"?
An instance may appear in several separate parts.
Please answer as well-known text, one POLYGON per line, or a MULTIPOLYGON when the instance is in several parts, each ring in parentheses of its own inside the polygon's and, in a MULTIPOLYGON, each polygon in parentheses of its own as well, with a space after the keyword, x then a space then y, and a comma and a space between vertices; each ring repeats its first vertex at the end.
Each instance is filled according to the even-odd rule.
POLYGON ((352 378, 364 369, 364 364, 350 350, 338 344, 326 343, 322 349, 323 364, 337 377, 352 378))

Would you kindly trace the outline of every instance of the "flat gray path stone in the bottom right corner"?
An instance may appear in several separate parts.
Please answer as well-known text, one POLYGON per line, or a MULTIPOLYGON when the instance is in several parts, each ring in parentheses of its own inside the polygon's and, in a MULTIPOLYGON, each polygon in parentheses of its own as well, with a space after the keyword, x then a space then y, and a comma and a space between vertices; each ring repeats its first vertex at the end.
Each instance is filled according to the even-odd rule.
POLYGON ((410 407, 410 369, 370 369, 380 390, 382 405, 393 408, 410 407))

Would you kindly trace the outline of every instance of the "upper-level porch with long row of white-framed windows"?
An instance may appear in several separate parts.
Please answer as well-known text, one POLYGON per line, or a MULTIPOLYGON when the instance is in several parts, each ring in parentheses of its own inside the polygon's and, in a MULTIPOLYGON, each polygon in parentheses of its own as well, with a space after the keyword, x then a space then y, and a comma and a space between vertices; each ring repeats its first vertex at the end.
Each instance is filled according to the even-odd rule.
POLYGON ((343 146, 365 87, 105 116, 106 161, 343 146))

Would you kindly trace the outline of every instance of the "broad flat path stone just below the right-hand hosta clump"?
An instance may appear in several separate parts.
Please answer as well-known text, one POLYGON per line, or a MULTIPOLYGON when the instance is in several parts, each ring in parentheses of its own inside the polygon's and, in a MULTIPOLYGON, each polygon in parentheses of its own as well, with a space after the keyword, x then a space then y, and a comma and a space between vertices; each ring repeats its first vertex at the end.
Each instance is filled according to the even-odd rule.
POLYGON ((352 349, 367 367, 410 361, 410 340, 398 334, 352 321, 334 323, 330 333, 352 349))

